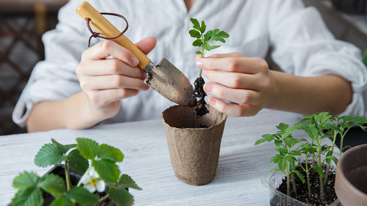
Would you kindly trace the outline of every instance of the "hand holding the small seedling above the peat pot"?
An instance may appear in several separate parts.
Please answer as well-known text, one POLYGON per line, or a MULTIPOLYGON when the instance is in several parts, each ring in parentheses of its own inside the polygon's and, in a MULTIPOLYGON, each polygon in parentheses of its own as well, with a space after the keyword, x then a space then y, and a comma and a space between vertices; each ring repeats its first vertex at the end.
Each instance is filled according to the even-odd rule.
POLYGON ((268 64, 261 58, 247 58, 237 52, 196 57, 196 65, 211 82, 204 91, 215 97, 208 104, 235 117, 256 115, 268 102, 271 76, 268 64), (237 104, 228 104, 218 98, 237 104))

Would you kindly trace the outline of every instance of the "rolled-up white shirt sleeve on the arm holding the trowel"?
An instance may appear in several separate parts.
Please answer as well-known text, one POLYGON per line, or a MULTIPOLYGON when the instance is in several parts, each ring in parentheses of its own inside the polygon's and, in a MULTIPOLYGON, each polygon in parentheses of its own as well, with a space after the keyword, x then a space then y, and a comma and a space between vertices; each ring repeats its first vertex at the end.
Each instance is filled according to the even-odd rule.
POLYGON ((64 99, 81 91, 75 68, 91 35, 85 21, 75 12, 81 2, 72 0, 62 7, 57 27, 42 36, 45 60, 33 68, 12 114, 19 126, 24 126, 35 103, 64 99))

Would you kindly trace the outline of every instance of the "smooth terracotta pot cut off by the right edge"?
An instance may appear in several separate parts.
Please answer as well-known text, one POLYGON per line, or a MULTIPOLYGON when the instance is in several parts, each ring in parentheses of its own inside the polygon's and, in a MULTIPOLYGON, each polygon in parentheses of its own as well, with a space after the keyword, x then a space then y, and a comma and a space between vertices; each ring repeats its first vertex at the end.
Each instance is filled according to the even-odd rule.
POLYGON ((350 148, 340 157, 335 193, 344 206, 367 205, 367 144, 350 148))

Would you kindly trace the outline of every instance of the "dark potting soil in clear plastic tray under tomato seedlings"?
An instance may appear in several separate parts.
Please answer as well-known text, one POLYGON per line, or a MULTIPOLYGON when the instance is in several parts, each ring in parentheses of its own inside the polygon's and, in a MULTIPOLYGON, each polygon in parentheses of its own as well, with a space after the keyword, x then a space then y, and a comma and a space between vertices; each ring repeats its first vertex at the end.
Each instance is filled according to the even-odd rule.
MULTIPOLYGON (((306 163, 302 162, 300 163, 304 168, 306 168, 306 163)), ((308 168, 310 168, 312 165, 310 162, 308 163, 308 168)), ((323 165, 322 169, 325 171, 327 168, 327 165, 323 165)), ((295 168, 299 172, 301 172, 302 176, 305 177, 306 180, 306 172, 300 168, 295 168)), ((331 169, 333 170, 333 169, 331 169)), ((324 201, 321 201, 320 197, 320 175, 316 172, 315 169, 311 169, 309 172, 310 177, 310 189, 311 189, 311 198, 308 199, 308 187, 307 187, 307 180, 305 183, 302 183, 301 179, 298 178, 296 174, 294 174, 295 178, 295 185, 296 185, 296 193, 293 190, 293 183, 292 178, 290 176, 290 196, 294 199, 297 199, 298 201, 307 203, 309 205, 315 205, 315 206, 321 206, 321 205, 330 205, 337 199, 337 195, 335 194, 334 185, 335 185, 335 171, 329 172, 327 183, 324 187, 324 201)), ((282 192, 283 194, 287 194, 287 179, 283 179, 283 182, 279 185, 276 190, 282 192)), ((271 206, 279 205, 279 197, 275 196, 273 199, 270 200, 271 206)), ((283 199, 284 202, 286 202, 285 199, 283 199)), ((286 205, 286 203, 284 203, 286 205)))

